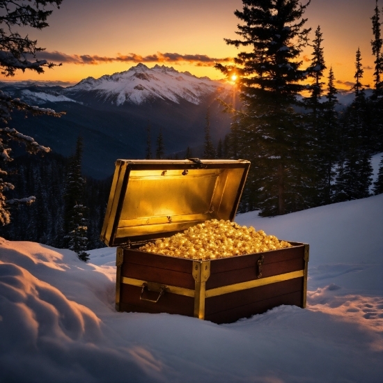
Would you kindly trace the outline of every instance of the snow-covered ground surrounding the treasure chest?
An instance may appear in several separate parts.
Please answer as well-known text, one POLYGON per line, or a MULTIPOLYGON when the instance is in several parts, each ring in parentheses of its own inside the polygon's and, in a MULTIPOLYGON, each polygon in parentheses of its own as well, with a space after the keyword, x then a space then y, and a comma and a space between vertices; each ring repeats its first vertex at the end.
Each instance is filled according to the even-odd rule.
POLYGON ((0 382, 383 381, 383 194, 237 222, 310 244, 308 307, 230 325, 114 310, 115 250, 0 240, 0 382))

